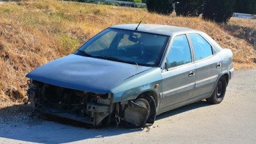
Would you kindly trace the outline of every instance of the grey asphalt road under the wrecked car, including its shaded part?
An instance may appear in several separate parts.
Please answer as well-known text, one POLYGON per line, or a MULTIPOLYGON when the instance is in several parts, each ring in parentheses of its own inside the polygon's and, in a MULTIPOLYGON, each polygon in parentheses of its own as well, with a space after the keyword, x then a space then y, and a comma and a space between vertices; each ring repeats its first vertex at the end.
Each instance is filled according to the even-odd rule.
POLYGON ((0 143, 256 143, 256 69, 236 71, 221 104, 202 100, 163 113, 144 130, 87 129, 31 118, 0 125, 0 143))

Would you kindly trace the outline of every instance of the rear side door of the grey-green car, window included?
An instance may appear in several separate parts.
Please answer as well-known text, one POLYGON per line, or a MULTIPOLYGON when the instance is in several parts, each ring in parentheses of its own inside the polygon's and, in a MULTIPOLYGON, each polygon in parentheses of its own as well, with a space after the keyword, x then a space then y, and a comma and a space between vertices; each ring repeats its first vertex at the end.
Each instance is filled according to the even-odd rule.
POLYGON ((221 58, 211 44, 198 33, 190 33, 189 38, 195 52, 196 85, 193 97, 209 97, 221 73, 221 58))

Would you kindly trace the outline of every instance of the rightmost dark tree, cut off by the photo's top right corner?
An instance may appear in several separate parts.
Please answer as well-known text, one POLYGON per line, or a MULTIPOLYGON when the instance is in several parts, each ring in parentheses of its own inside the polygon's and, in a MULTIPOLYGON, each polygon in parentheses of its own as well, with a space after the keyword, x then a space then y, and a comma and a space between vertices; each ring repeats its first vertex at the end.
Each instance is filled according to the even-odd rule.
POLYGON ((256 14, 255 0, 236 0, 235 12, 256 14))

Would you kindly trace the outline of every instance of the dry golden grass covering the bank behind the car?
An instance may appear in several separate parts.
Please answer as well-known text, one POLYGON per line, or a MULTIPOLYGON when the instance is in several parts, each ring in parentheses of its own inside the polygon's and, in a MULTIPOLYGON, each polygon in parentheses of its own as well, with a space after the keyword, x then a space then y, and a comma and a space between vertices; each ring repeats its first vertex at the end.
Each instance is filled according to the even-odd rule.
MULTIPOLYGON (((138 8, 54 0, 0 2, 0 107, 10 104, 6 100, 8 85, 25 94, 19 86, 26 83, 26 74, 34 68, 74 52, 109 26, 138 23, 146 12, 138 8)), ((256 48, 250 40, 256 37, 255 21, 232 18, 228 25, 219 25, 196 17, 148 13, 143 23, 204 31, 222 47, 231 49, 235 68, 243 68, 255 67, 256 48), (242 32, 235 31, 236 28, 244 36, 239 36, 242 32)), ((19 103, 24 98, 12 100, 19 103)))

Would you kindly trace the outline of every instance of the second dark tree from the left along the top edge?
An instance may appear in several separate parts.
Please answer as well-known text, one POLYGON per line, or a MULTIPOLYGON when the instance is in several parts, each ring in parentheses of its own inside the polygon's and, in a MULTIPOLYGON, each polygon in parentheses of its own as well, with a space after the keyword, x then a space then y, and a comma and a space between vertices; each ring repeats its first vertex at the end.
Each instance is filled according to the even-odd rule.
POLYGON ((176 15, 198 17, 203 12, 205 0, 176 0, 176 15))

